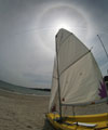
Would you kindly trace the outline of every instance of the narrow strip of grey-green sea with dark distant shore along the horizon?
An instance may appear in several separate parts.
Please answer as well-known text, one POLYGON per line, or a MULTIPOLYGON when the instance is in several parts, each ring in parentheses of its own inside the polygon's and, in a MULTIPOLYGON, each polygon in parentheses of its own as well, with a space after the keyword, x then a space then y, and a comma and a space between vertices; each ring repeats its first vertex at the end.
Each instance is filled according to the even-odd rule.
POLYGON ((44 92, 50 93, 51 89, 48 88, 28 88, 28 87, 21 87, 16 84, 12 84, 5 81, 0 80, 0 89, 16 93, 23 93, 23 94, 44 94, 44 92))

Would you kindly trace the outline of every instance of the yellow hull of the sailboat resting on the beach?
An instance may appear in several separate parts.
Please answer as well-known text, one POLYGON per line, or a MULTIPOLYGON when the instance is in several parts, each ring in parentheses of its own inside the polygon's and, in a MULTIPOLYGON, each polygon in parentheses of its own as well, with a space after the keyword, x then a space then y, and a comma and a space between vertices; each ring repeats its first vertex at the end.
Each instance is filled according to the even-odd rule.
POLYGON ((46 119, 58 130, 108 130, 108 114, 67 116, 63 117, 63 122, 56 121, 59 116, 57 114, 46 114, 46 119), (95 127, 86 127, 75 125, 73 122, 84 122, 86 125, 96 125, 95 127))

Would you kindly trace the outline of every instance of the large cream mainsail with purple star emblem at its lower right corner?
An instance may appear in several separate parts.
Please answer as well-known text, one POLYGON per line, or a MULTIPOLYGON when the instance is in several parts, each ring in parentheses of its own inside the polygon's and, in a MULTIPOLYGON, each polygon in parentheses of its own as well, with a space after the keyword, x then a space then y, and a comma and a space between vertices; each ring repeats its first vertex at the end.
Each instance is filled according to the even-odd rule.
MULTIPOLYGON (((92 103, 106 98, 102 73, 91 51, 65 29, 58 31, 56 42, 62 104, 92 103)), ((56 95, 58 84, 52 83, 52 93, 56 95)))

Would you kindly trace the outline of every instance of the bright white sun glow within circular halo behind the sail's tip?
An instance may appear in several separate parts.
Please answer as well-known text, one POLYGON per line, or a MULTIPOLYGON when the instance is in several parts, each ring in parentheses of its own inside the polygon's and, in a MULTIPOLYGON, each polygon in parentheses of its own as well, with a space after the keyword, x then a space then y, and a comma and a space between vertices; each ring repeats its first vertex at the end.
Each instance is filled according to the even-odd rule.
POLYGON ((70 30, 79 38, 85 39, 87 34, 87 22, 80 11, 69 5, 52 6, 44 10, 39 20, 39 37, 48 48, 54 50, 55 35, 59 28, 70 30))

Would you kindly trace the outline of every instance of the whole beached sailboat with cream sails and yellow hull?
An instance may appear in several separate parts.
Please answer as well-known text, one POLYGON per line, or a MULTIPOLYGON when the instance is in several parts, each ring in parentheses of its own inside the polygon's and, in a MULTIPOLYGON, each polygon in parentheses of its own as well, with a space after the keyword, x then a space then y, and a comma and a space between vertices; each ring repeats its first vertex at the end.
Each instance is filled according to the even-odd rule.
POLYGON ((46 119, 60 130, 108 129, 108 114, 63 115, 64 107, 108 102, 100 69, 91 52, 72 32, 59 29, 46 119))

